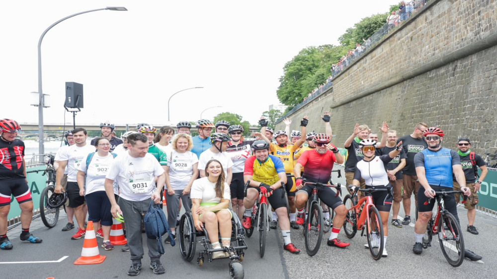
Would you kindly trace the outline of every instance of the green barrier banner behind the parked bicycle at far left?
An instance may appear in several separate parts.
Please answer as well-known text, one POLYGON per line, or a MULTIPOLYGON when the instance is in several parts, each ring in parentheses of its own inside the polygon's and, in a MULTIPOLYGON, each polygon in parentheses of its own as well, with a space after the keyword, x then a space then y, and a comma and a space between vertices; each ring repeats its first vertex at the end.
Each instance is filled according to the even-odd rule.
MULTIPOLYGON (((31 196, 33 197, 34 210, 40 208, 40 194, 41 191, 43 191, 43 189, 45 189, 45 187, 47 186, 47 176, 42 175, 43 170, 45 170, 46 168, 47 168, 46 166, 40 166, 40 167, 30 167, 26 169, 27 171, 38 170, 38 169, 42 170, 39 171, 38 173, 36 172, 27 173, 28 186, 29 189, 31 190, 31 196)), ((10 200, 12 202, 10 203, 10 211, 8 213, 7 220, 21 215, 21 209, 19 208, 19 204, 15 200, 14 196, 10 197, 10 200)))

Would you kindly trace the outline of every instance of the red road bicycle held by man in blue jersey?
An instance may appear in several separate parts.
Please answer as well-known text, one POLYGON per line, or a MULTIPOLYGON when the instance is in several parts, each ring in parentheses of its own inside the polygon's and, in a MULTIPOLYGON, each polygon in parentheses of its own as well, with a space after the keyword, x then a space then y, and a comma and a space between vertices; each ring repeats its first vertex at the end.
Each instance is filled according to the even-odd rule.
MULTIPOLYGON (((461 231, 461 226, 457 219, 444 207, 443 198, 449 194, 461 193, 464 196, 462 203, 471 199, 464 195, 463 191, 436 191, 434 199, 437 206, 433 207, 433 214, 428 220, 428 226, 423 236, 423 248, 431 247, 433 235, 438 235, 438 242, 442 249, 443 256, 453 267, 460 266, 464 261, 464 238, 461 231)), ((431 202, 429 198, 424 205, 431 202)))

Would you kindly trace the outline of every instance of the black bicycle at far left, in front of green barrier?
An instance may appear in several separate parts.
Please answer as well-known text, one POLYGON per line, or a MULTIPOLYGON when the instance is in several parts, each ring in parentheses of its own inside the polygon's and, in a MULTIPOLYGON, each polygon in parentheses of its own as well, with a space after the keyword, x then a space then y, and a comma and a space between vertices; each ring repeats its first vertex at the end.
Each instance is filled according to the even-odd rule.
MULTIPOLYGON (((43 176, 47 175, 47 187, 41 191, 40 194, 40 217, 43 224, 48 228, 52 228, 57 225, 57 221, 59 221, 59 207, 52 208, 48 204, 48 199, 54 194, 55 190, 55 177, 57 170, 54 167, 55 157, 54 155, 47 155, 47 168, 43 170, 43 176)), ((36 172, 42 171, 39 170, 30 170, 26 172, 36 172)), ((66 207, 64 206, 64 210, 66 207)))

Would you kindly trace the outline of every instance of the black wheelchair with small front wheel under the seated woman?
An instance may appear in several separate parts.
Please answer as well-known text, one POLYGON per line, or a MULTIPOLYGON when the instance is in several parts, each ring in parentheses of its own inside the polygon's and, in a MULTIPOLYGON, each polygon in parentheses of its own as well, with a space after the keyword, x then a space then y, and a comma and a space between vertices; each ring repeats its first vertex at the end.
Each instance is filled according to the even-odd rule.
POLYGON ((231 211, 233 218, 231 219, 232 233, 231 233, 231 246, 222 247, 221 249, 212 249, 209 240, 209 234, 205 228, 202 231, 198 231, 193 224, 193 216, 191 212, 186 212, 181 216, 179 221, 179 249, 181 255, 186 259, 186 261, 191 262, 195 256, 196 244, 200 243, 203 245, 204 250, 199 252, 197 258, 197 264, 202 267, 204 264, 204 255, 207 255, 207 261, 212 262, 212 253, 214 252, 228 252, 230 254, 229 263, 230 276, 232 279, 243 279, 244 278, 244 268, 242 266, 245 252, 247 249, 247 244, 245 243, 245 230, 242 227, 242 222, 238 218, 237 214, 231 211), (197 240, 197 238, 199 240, 197 240))

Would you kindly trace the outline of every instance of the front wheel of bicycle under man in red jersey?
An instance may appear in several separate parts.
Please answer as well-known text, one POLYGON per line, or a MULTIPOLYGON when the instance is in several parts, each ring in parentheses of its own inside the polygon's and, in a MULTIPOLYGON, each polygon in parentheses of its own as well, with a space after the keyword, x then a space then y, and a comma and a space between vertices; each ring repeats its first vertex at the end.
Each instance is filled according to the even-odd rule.
POLYGON ((323 240, 323 209, 317 202, 312 203, 311 210, 307 217, 307 230, 305 242, 306 250, 309 256, 314 256, 318 253, 321 240, 323 240))

